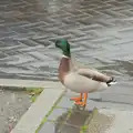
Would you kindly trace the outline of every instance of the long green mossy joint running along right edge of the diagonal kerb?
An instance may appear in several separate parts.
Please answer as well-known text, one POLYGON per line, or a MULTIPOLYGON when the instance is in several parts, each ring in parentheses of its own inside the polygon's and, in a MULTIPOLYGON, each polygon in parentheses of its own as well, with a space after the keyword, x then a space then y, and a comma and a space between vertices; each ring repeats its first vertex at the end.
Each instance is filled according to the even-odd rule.
MULTIPOLYGON (((64 93, 63 93, 64 94, 64 93)), ((47 122, 48 116, 53 112, 54 108, 57 106, 57 104, 61 101, 63 94, 57 100, 57 102, 53 104, 53 106, 51 108, 51 110, 48 112, 48 114, 44 116, 44 119, 42 120, 41 124, 39 125, 39 127, 37 129, 35 133, 38 133, 40 131, 40 129, 42 127, 42 125, 47 122)))

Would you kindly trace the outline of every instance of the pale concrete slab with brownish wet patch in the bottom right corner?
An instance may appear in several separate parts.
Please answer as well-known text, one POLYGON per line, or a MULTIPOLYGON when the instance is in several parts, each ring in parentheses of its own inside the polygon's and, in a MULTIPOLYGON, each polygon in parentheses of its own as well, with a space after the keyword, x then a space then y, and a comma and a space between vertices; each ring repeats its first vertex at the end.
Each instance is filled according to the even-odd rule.
POLYGON ((133 112, 99 109, 89 123, 88 133, 133 133, 133 112))

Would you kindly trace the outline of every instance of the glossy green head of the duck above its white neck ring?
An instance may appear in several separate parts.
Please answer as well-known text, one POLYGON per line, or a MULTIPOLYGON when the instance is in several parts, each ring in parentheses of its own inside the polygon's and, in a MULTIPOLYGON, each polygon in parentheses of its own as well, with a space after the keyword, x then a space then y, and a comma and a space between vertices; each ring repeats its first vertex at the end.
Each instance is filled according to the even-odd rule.
POLYGON ((61 49, 63 51, 63 54, 66 57, 71 57, 71 52, 70 52, 70 44, 68 42, 68 40, 65 39, 60 39, 55 41, 55 47, 61 49))

